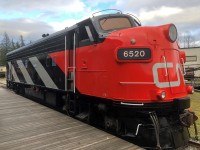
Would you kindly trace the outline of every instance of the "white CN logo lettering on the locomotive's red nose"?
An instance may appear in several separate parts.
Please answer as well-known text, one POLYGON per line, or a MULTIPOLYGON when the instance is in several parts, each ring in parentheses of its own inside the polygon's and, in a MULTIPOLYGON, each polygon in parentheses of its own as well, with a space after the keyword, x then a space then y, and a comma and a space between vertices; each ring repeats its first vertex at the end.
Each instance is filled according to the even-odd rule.
POLYGON ((154 78, 154 83, 156 84, 157 87, 159 88, 166 88, 166 87, 176 87, 180 86, 180 73, 179 70, 181 71, 180 64, 176 64, 176 74, 177 74, 177 81, 172 81, 172 82, 160 82, 159 81, 159 75, 158 75, 158 69, 165 69, 166 71, 166 76, 168 76, 168 70, 167 68, 173 68, 173 63, 156 63, 154 64, 152 68, 153 72, 153 78, 154 78))

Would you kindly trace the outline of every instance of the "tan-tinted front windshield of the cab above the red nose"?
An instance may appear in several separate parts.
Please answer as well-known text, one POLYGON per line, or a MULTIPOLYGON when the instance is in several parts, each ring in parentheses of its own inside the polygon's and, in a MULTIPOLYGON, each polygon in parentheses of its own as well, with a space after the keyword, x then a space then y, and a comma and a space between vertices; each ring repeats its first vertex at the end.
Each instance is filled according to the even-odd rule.
POLYGON ((100 27, 105 31, 132 27, 131 22, 126 17, 102 18, 99 23, 100 27))

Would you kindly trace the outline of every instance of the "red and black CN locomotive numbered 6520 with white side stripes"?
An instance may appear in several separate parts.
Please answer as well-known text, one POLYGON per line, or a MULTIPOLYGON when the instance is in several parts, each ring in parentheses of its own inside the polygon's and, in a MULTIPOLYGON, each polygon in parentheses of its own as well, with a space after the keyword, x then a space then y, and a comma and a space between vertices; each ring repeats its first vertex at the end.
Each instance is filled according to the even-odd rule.
POLYGON ((176 39, 174 24, 93 16, 8 53, 7 86, 144 148, 175 149, 194 123, 176 39))

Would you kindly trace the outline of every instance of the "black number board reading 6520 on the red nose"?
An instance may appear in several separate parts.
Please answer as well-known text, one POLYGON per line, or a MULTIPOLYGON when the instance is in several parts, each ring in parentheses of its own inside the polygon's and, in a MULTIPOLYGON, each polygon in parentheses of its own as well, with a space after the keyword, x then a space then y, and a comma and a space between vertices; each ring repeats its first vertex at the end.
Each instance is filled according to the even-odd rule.
POLYGON ((117 51, 119 60, 149 60, 151 50, 148 48, 123 48, 117 51))

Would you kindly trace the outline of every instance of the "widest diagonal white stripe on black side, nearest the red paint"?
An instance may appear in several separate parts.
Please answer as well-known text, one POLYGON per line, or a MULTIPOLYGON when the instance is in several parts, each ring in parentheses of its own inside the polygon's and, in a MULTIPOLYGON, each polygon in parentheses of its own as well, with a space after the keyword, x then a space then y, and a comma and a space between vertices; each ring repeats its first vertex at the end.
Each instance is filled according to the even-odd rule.
POLYGON ((42 79, 42 81, 44 82, 45 86, 48 87, 48 88, 58 89, 58 87, 53 82, 53 80, 51 79, 49 74, 46 72, 46 70, 44 69, 44 67, 42 66, 42 64, 38 60, 38 58, 37 57, 31 57, 31 58, 29 58, 29 60, 30 60, 31 64, 33 65, 33 67, 35 68, 38 75, 40 76, 40 78, 42 79))

